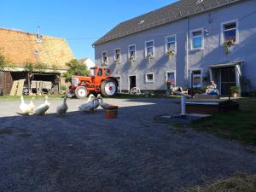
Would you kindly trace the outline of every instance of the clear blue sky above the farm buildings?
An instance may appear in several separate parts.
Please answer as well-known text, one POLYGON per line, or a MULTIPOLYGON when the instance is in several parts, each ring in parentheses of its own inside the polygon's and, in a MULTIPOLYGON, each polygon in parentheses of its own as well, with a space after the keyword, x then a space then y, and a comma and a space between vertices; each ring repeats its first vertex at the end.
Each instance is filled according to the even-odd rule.
POLYGON ((124 20, 176 0, 0 0, 0 27, 67 38, 76 58, 94 60, 91 44, 124 20))

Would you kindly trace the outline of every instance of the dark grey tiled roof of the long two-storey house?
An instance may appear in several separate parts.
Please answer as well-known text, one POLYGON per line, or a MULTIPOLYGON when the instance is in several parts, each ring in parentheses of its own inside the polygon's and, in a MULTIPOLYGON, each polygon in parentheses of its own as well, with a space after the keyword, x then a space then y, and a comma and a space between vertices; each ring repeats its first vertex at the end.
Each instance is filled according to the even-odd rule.
POLYGON ((242 0, 181 0, 120 23, 102 38, 98 39, 94 45, 240 1, 242 0))

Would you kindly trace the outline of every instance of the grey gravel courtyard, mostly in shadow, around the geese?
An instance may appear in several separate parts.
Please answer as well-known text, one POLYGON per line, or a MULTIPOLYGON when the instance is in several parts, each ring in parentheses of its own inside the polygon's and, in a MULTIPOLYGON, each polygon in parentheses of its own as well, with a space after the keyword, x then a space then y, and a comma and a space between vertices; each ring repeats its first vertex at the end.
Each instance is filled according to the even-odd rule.
MULTIPOLYGON (((118 119, 80 113, 19 116, 0 100, 1 192, 176 192, 234 172, 256 172, 256 148, 154 122, 178 113, 175 99, 108 99, 118 119), (3 134, 4 133, 4 134, 3 134)), ((36 104, 43 101, 36 101, 36 104)))

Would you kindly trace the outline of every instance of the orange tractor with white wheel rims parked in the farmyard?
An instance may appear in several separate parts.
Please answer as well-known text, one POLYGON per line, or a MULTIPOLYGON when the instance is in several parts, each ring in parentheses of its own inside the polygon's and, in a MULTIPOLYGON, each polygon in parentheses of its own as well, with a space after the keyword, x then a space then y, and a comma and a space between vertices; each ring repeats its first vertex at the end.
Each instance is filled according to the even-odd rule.
POLYGON ((90 77, 72 76, 72 85, 66 90, 67 97, 77 96, 83 99, 90 93, 109 97, 118 90, 117 79, 110 76, 110 69, 105 67, 91 67, 90 77))

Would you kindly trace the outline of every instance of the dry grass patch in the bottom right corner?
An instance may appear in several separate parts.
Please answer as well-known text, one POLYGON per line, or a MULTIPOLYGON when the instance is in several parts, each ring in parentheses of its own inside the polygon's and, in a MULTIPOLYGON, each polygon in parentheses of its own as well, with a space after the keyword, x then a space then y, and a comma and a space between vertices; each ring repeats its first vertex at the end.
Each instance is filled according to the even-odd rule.
POLYGON ((230 178, 185 189, 183 192, 255 192, 256 175, 236 173, 230 178))

